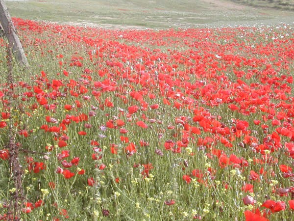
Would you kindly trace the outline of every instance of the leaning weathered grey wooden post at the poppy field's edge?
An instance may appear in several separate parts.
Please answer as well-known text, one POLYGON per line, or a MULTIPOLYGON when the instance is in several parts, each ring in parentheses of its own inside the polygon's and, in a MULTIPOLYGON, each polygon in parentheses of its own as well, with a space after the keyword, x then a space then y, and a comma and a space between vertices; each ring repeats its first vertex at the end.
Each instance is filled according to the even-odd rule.
POLYGON ((11 21, 8 9, 4 3, 4 0, 0 0, 0 24, 3 28, 4 34, 8 39, 9 47, 12 48, 17 61, 22 66, 28 66, 28 62, 25 56, 24 49, 21 41, 16 34, 15 27, 11 21))

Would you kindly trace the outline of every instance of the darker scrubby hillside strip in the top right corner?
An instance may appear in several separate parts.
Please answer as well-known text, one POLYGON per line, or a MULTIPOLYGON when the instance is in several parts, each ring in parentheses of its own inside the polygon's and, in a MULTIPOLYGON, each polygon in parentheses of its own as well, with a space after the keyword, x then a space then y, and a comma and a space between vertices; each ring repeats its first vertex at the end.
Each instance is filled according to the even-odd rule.
POLYGON ((294 11, 294 0, 231 0, 254 7, 270 7, 294 11))

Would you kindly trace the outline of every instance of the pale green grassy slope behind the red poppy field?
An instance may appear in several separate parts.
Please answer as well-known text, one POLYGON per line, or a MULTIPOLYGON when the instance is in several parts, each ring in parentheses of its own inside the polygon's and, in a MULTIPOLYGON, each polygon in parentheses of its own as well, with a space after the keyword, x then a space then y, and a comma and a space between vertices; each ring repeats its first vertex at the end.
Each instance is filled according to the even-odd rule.
POLYGON ((102 27, 195 28, 270 24, 294 20, 294 12, 256 9, 225 0, 29 0, 6 1, 10 14, 32 20, 102 27))

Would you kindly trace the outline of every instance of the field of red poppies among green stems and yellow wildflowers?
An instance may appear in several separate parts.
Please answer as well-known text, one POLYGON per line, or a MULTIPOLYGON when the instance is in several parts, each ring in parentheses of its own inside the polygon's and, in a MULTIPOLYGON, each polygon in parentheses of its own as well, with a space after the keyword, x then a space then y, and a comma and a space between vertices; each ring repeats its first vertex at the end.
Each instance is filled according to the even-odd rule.
POLYGON ((0 220, 11 132, 23 220, 291 220, 293 24, 13 22, 30 67, 0 38, 0 220))

